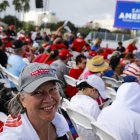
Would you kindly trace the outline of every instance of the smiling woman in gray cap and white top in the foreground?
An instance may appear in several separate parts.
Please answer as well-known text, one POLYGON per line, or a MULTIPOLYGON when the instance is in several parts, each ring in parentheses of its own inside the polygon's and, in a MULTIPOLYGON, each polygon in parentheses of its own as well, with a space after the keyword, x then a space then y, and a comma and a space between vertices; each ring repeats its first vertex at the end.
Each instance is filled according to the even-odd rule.
POLYGON ((66 120, 57 113, 58 83, 61 81, 49 65, 31 63, 25 67, 0 140, 73 140, 66 120))

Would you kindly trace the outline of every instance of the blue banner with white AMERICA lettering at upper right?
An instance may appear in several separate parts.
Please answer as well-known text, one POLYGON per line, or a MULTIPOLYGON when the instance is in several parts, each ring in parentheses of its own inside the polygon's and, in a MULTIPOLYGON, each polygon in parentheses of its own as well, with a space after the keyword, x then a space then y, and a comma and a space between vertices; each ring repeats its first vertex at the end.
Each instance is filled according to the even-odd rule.
POLYGON ((114 27, 140 29, 140 2, 117 1, 114 27))

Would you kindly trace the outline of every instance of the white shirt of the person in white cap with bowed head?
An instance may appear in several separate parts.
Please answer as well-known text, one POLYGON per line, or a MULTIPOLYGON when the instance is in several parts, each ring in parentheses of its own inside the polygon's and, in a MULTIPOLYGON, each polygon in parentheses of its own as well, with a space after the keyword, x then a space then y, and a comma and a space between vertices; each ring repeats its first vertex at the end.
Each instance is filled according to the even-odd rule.
MULTIPOLYGON (((100 109, 98 103, 89 96, 76 94, 70 100, 70 106, 78 111, 82 111, 85 114, 97 119, 100 109)), ((84 140, 98 140, 99 138, 95 135, 92 130, 86 130, 81 126, 77 125, 78 133, 84 138, 84 140)))

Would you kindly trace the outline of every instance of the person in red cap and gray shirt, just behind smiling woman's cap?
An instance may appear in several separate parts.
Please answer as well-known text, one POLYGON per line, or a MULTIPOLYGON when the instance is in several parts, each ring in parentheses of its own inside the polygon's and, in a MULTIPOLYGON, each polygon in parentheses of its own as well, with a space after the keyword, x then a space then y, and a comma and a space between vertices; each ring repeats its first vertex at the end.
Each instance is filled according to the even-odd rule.
POLYGON ((59 59, 54 61, 51 66, 56 69, 56 74, 58 79, 62 80, 65 84, 64 75, 68 74, 69 68, 67 67, 67 62, 69 61, 72 54, 67 49, 63 49, 59 52, 59 59))

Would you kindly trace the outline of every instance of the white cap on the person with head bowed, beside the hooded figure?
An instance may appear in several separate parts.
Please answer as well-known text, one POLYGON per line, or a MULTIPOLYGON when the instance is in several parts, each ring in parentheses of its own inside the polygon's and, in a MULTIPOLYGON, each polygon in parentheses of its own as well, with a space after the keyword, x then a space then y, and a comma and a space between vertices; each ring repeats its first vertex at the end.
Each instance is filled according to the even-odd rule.
POLYGON ((98 90, 100 96, 103 99, 106 99, 105 83, 99 76, 97 76, 95 74, 89 75, 87 79, 77 82, 77 85, 81 84, 82 82, 87 82, 90 86, 96 88, 98 90))

